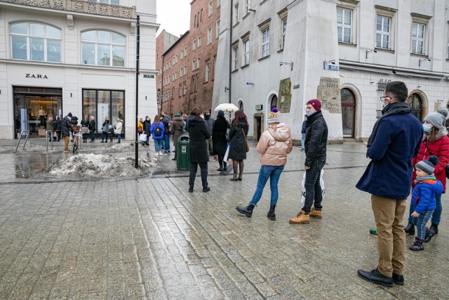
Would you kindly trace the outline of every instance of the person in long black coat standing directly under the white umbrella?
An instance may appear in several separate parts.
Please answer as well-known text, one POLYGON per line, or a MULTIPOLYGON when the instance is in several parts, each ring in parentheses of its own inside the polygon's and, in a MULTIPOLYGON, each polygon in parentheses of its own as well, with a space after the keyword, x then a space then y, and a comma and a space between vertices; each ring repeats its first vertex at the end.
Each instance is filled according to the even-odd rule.
POLYGON ((229 122, 225 119, 225 112, 219 110, 212 129, 212 152, 213 155, 217 155, 220 164, 220 169, 217 171, 226 171, 227 168, 226 162, 223 162, 227 148, 227 129, 229 129, 229 122))

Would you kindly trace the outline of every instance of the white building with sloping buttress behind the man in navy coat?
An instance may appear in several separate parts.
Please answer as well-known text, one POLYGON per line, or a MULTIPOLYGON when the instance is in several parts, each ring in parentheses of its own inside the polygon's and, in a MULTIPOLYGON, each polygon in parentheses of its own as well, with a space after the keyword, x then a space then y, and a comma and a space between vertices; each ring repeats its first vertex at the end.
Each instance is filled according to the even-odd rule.
POLYGON ((448 105, 448 1, 224 2, 217 51, 223 72, 215 74, 213 107, 229 101, 231 86, 231 101, 245 111, 255 139, 276 106, 300 140, 312 98, 323 102, 330 142, 368 138, 389 81, 407 84, 420 120, 448 105))

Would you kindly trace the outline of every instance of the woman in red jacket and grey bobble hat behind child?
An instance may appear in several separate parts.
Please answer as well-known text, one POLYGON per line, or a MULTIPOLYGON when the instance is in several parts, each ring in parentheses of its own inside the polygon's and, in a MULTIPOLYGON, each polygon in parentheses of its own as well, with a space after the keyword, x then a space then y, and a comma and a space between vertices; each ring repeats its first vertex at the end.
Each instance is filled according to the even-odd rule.
MULTIPOLYGON (((435 177, 438 181, 443 183, 443 193, 446 190, 446 172, 445 167, 449 164, 449 138, 448 130, 444 126, 445 119, 448 118, 448 110, 438 110, 438 112, 431 112, 424 118, 424 138, 422 139, 420 152, 417 157, 412 160, 413 166, 423 159, 429 159, 430 155, 436 155, 440 161, 435 166, 435 177)), ((416 169, 415 169, 416 171, 416 169)), ((412 175, 412 185, 415 187, 416 173, 412 175)), ((441 219, 441 195, 435 197, 436 209, 431 219, 431 226, 426 233, 424 242, 430 242, 434 235, 438 234, 438 225, 441 219)), ((410 214, 408 215, 408 225, 404 231, 410 235, 415 234, 415 226, 412 223, 411 214, 415 211, 415 203, 410 202, 410 214)))

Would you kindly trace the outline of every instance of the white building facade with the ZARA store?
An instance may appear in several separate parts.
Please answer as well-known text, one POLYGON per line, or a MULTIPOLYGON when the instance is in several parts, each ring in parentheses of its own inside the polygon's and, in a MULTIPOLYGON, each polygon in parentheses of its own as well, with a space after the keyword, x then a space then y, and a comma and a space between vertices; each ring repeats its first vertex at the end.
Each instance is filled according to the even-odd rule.
POLYGON ((0 138, 69 112, 123 119, 135 137, 136 23, 140 117, 156 115, 156 0, 1 0, 0 138), (44 116, 42 117, 44 113, 44 116))

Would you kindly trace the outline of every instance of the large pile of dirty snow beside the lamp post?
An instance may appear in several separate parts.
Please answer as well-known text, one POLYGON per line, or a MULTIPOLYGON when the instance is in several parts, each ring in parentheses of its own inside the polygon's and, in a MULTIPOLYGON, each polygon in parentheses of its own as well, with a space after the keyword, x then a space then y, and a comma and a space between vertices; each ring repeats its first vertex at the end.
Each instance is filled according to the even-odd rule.
POLYGON ((64 160, 58 160, 40 174, 49 174, 53 178, 114 178, 121 176, 142 176, 156 167, 157 159, 139 158, 139 169, 135 169, 132 157, 113 157, 112 155, 79 154, 64 160))

